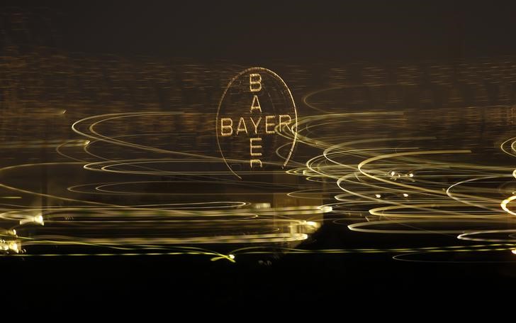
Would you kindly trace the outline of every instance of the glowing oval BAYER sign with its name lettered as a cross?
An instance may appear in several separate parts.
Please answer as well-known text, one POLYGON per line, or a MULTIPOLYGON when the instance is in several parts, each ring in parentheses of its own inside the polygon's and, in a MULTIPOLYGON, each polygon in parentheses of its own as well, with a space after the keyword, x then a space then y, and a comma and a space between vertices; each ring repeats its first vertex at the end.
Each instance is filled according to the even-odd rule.
POLYGON ((292 94, 271 70, 252 67, 226 87, 217 111, 217 142, 237 177, 283 168, 296 144, 297 111, 292 94), (239 175, 240 174, 240 175, 239 175))

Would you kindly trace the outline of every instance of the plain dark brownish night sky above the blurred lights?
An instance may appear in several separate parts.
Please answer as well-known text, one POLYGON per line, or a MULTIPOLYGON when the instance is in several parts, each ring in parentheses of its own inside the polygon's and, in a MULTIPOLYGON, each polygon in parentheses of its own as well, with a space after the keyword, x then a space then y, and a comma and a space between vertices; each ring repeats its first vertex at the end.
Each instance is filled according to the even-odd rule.
POLYGON ((82 52, 237 62, 449 60, 516 54, 515 1, 56 1, 47 5, 64 13, 62 45, 82 52))

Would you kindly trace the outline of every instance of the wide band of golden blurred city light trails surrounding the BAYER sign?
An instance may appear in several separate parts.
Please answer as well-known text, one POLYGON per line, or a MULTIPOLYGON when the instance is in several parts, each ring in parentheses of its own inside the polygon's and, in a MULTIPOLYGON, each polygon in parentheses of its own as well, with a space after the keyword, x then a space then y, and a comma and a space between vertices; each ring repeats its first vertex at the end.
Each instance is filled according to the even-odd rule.
POLYGON ((298 122, 271 138, 296 148, 229 160, 240 180, 215 114, 247 66, 11 46, 0 254, 514 259, 516 58, 276 65, 298 122))

